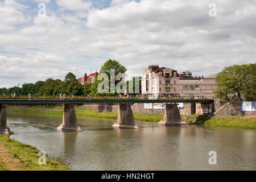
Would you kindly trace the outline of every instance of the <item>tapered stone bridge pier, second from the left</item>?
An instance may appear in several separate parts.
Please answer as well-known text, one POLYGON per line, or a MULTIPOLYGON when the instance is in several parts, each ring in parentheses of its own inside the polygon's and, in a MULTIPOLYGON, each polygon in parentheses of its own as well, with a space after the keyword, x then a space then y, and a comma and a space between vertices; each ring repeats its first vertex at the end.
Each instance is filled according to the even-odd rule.
POLYGON ((76 111, 73 105, 64 105, 62 124, 57 127, 58 131, 82 131, 77 123, 76 111))

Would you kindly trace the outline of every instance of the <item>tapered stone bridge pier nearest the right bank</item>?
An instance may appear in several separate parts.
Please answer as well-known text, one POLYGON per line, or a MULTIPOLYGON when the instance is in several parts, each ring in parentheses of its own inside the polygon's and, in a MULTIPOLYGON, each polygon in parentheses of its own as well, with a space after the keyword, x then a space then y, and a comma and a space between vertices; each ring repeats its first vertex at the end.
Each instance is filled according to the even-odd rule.
POLYGON ((166 104, 163 120, 158 122, 160 126, 187 126, 188 123, 181 119, 180 111, 177 104, 166 104))

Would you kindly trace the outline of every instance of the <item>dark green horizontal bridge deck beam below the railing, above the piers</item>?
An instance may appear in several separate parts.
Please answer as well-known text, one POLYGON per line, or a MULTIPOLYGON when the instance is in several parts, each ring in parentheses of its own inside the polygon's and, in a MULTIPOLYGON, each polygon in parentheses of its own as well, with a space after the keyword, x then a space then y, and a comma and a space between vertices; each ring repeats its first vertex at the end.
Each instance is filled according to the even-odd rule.
POLYGON ((213 99, 147 99, 147 100, 136 100, 136 99, 80 99, 80 100, 27 100, 27 99, 0 99, 0 105, 84 105, 84 104, 136 104, 136 103, 212 103, 213 99))

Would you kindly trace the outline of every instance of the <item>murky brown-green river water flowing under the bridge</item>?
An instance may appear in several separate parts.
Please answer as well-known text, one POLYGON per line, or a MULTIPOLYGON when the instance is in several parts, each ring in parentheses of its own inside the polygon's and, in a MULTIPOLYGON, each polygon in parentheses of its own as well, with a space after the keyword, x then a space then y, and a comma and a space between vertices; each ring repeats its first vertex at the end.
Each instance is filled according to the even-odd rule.
POLYGON ((62 116, 8 112, 11 138, 74 170, 255 170, 256 131, 221 127, 113 129, 113 120, 77 118, 81 133, 56 131, 62 116), (217 164, 210 165, 209 151, 217 164))

